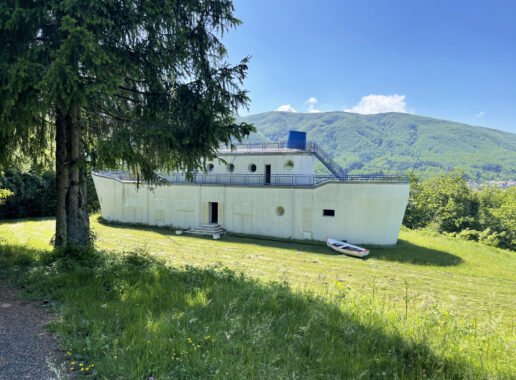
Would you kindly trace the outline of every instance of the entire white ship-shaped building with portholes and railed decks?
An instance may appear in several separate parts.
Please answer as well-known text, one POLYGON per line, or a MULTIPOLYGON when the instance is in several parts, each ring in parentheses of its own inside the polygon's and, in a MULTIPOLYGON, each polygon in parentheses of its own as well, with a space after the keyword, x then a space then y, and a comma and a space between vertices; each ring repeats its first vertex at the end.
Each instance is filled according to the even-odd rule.
POLYGON ((220 149, 192 182, 166 177, 156 188, 121 172, 92 173, 109 221, 174 226, 218 223, 227 231, 292 239, 396 244, 409 195, 404 176, 346 176, 312 143, 220 149), (316 175, 320 160, 332 175, 316 175))

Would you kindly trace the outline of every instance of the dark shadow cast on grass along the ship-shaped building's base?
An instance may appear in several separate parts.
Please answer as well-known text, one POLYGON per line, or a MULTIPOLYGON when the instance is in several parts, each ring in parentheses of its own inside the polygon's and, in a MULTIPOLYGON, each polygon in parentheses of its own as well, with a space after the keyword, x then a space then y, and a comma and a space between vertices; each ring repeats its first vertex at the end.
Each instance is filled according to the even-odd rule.
MULTIPOLYGON (((141 230, 152 231, 164 236, 175 237, 175 231, 170 228, 163 227, 149 227, 145 225, 132 225, 132 224, 124 224, 124 223, 111 223, 102 221, 99 218, 99 223, 112 227, 112 228, 122 228, 122 229, 134 229, 138 228, 141 230)), ((191 236, 191 235, 183 235, 186 238, 192 239, 205 239, 209 241, 213 241, 211 236, 191 236)), ((260 237, 253 235, 243 235, 243 234, 229 234, 223 238, 223 241, 230 243, 238 243, 238 244, 252 244, 261 247, 267 248, 280 248, 280 249, 289 249, 296 250, 301 252, 313 253, 313 254, 322 254, 328 256, 343 256, 349 259, 361 260, 357 257, 351 257, 346 255, 341 255, 336 253, 334 250, 328 248, 326 243, 319 241, 299 241, 299 240, 289 240, 289 239, 280 239, 280 238, 268 238, 268 237, 260 237)), ((382 246, 367 246, 367 248, 371 249, 371 253, 365 259, 378 259, 385 261, 395 261, 399 263, 409 263, 415 265, 428 265, 428 266, 456 266, 462 264, 464 261, 449 252, 440 251, 437 249, 426 248, 422 246, 418 246, 412 244, 406 240, 399 240, 396 246, 392 247, 382 247, 382 246)))

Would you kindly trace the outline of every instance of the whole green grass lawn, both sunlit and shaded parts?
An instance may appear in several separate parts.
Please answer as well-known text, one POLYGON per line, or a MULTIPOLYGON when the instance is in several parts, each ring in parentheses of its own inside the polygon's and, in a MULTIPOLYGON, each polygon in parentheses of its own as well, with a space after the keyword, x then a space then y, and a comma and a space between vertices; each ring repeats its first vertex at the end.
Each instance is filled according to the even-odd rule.
POLYGON ((324 244, 214 241, 104 225, 97 216, 92 227, 106 252, 72 260, 52 252, 53 220, 0 224, 2 276, 58 301, 53 329, 72 372, 516 376, 514 252, 403 230, 397 247, 372 247, 360 260, 324 244), (80 363, 94 366, 80 372, 80 363))

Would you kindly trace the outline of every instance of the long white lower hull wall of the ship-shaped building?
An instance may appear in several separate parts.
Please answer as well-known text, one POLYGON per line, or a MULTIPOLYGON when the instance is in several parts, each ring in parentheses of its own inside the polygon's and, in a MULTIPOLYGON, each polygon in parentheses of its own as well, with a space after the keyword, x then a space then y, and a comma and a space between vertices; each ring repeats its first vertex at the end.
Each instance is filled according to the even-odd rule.
POLYGON ((228 231, 294 239, 346 239, 396 244, 408 201, 408 183, 327 183, 319 187, 168 184, 154 190, 93 175, 107 220, 191 228, 207 223, 219 203, 228 231), (277 207, 285 210, 277 215, 277 207), (323 216, 323 209, 335 216, 323 216))

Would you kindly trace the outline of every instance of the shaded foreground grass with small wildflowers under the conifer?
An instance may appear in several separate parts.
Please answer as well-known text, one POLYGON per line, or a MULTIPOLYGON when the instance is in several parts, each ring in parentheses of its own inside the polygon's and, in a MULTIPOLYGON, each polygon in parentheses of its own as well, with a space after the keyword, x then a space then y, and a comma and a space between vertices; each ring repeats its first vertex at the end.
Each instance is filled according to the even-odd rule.
POLYGON ((62 317, 53 329, 70 360, 80 355, 106 378, 212 378, 220 368, 225 378, 249 379, 485 375, 460 353, 440 357, 427 343, 386 333, 385 317, 368 305, 227 269, 1 245, 0 275, 33 298, 57 301, 62 317))

